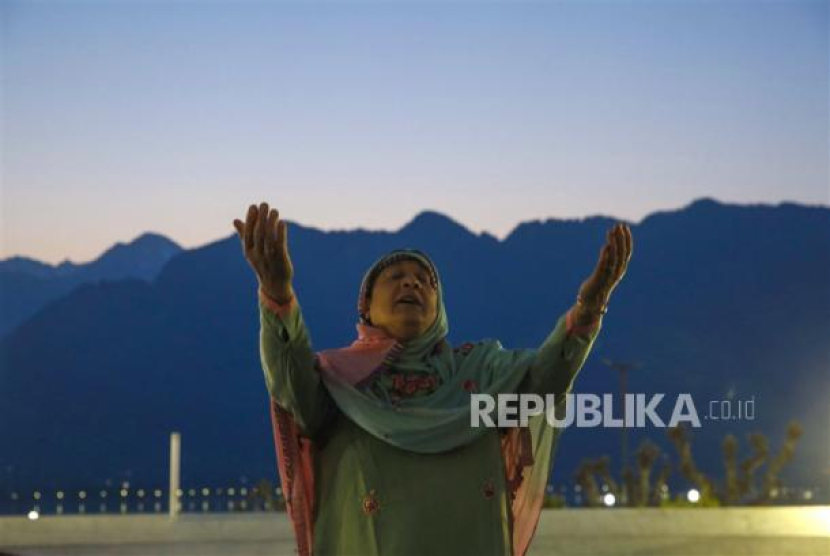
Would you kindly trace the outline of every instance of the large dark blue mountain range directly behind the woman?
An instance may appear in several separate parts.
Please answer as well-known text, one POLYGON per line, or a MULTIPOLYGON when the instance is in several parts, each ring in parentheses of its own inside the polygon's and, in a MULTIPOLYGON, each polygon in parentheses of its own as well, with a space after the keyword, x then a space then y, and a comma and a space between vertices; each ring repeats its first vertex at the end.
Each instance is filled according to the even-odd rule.
MULTIPOLYGON (((541 343, 591 272, 609 217, 518 226, 503 241, 438 213, 397 232, 322 232, 292 224, 296 290, 318 349, 354 336, 362 274, 385 251, 430 253, 442 274, 450 340, 541 343)), ((639 365, 629 392, 693 395, 700 467, 721 476, 732 432, 805 434, 787 477, 825 485, 830 440, 830 209, 704 199, 632 225, 635 250, 579 392, 617 392, 603 359, 639 365), (706 421, 710 400, 755 400, 753 421, 706 421)), ((169 260, 156 279, 84 284, 0 342, 0 484, 71 488, 105 478, 163 485, 168 434, 183 438, 186 485, 275 478, 258 352, 255 280, 232 235, 169 260)), ((632 430, 665 442, 665 431, 632 430)), ((579 460, 619 462, 619 429, 571 429, 556 480, 579 460)), ((675 473, 677 480, 678 473, 675 473)))

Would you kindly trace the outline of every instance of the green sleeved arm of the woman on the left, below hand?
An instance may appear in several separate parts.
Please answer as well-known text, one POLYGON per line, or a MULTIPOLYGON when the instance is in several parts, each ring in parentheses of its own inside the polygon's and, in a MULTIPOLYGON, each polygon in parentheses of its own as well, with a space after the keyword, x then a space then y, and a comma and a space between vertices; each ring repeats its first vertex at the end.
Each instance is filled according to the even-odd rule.
POLYGON ((278 303, 260 290, 260 357, 271 398, 289 411, 307 436, 315 436, 330 400, 315 368, 311 339, 295 297, 278 303))

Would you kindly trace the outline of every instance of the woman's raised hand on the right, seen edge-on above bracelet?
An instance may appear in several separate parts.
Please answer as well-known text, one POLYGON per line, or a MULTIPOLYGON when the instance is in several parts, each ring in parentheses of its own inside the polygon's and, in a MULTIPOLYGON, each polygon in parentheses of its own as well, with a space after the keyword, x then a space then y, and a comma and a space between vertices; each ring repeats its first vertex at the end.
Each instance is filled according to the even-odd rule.
POLYGON ((599 311, 608 303, 611 292, 625 276, 631 259, 633 240, 631 229, 626 224, 611 228, 606 238, 593 274, 579 288, 579 297, 587 310, 599 311))

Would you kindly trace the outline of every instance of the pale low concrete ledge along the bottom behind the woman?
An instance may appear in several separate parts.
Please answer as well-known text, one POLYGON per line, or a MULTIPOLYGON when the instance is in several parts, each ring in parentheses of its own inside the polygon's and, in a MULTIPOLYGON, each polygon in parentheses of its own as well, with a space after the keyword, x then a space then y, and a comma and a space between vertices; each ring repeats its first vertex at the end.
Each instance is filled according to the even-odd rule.
MULTIPOLYGON (((0 556, 293 554, 284 513, 0 519, 0 556)), ((544 511, 529 556, 544 555, 830 556, 830 507, 544 511)))

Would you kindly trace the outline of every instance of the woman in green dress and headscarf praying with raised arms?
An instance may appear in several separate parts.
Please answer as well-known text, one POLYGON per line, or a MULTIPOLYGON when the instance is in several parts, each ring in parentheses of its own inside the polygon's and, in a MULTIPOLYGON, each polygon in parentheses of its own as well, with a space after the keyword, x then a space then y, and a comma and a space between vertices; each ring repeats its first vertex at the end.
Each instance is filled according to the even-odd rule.
POLYGON ((544 415, 526 427, 471 427, 471 395, 554 394, 563 405, 625 273, 628 227, 609 231, 577 303, 538 350, 495 340, 453 349, 437 269, 420 251, 396 250, 363 278, 357 340, 315 354, 285 222, 262 203, 234 226, 259 281, 261 356, 299 553, 525 554, 559 429, 544 415))

